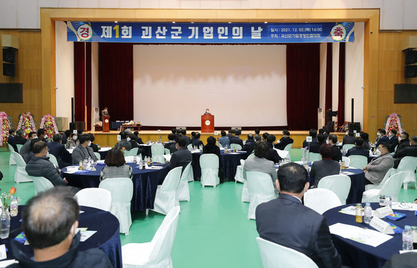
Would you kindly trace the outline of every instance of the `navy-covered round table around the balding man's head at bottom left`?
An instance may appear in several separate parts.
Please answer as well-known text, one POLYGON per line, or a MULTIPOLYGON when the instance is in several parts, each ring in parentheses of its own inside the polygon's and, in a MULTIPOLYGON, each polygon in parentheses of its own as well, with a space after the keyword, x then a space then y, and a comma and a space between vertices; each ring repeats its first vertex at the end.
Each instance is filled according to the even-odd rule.
MULTIPOLYGON (((10 246, 10 239, 16 237, 22 232, 22 210, 24 206, 19 206, 19 213, 16 217, 10 217, 10 234, 9 237, 1 240, 0 244, 6 244, 7 257, 13 259, 13 251, 10 246)), ((99 248, 111 261, 113 267, 122 267, 122 244, 120 243, 119 220, 104 210, 81 206, 82 213, 79 215, 79 228, 88 228, 89 231, 97 231, 94 235, 80 242, 79 250, 99 248)), ((31 246, 24 246, 26 252, 32 251, 31 246)))

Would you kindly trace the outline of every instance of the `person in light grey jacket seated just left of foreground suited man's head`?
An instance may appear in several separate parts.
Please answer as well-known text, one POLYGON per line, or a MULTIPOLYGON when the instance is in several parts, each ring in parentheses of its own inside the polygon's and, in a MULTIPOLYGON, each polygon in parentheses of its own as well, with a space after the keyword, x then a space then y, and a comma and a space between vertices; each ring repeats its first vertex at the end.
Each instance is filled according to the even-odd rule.
POLYGON ((270 146, 266 142, 256 142, 254 148, 255 156, 245 161, 243 167, 243 178, 246 179, 246 171, 259 171, 269 174, 272 179, 272 183, 275 188, 275 192, 278 193, 275 181, 277 181, 277 171, 275 171, 274 162, 267 160, 270 150, 270 146))

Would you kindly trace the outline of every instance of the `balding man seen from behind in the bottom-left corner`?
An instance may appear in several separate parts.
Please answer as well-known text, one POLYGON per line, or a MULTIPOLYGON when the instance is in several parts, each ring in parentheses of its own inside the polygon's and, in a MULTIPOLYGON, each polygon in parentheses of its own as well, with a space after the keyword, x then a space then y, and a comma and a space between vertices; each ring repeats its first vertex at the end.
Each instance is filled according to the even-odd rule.
POLYGON ((79 251, 80 208, 74 194, 66 187, 47 190, 26 203, 23 231, 33 253, 11 241, 13 256, 19 261, 9 267, 105 267, 113 265, 100 249, 79 251))

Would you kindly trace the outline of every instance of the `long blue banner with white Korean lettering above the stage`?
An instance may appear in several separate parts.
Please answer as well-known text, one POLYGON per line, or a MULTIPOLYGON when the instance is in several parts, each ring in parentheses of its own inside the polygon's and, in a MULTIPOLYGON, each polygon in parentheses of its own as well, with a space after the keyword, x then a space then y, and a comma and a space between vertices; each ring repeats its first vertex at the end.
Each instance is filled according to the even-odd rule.
POLYGON ((163 44, 353 42, 354 23, 67 22, 67 40, 163 44))

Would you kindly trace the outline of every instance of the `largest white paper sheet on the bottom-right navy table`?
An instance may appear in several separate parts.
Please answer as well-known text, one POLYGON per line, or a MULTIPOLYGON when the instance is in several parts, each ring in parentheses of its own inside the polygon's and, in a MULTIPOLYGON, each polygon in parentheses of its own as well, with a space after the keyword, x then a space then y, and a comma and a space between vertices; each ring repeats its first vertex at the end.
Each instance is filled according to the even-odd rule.
POLYGON ((370 229, 359 228, 349 224, 333 224, 332 226, 329 226, 329 229, 330 233, 334 235, 340 235, 341 237, 370 246, 379 246, 393 238, 391 235, 386 235, 370 229))

